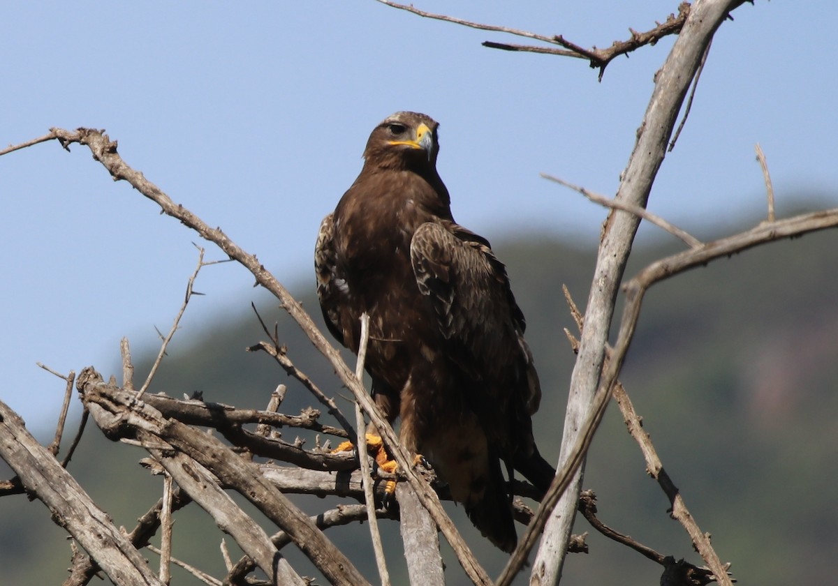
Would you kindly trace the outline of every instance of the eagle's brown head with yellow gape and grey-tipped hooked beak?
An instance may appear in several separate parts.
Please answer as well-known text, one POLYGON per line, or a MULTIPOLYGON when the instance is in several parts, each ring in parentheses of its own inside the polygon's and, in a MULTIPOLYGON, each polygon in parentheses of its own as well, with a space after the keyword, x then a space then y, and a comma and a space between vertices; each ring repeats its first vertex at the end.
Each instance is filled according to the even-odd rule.
POLYGON ((417 112, 387 116, 370 134, 364 151, 367 165, 432 170, 437 164, 439 124, 417 112))

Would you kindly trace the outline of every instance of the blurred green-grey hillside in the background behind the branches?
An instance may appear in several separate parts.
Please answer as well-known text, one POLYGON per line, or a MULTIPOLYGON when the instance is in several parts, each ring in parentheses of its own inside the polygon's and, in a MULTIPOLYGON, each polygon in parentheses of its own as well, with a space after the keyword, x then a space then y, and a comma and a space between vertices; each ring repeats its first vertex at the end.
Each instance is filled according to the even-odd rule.
MULTIPOLYGON (((573 363, 562 332, 572 328, 572 321, 561 285, 566 283, 584 306, 594 252, 546 238, 494 242, 494 248, 508 266, 527 317, 527 338, 545 394, 535 433, 542 452, 555 460, 573 363)), ((629 275, 677 249, 673 243, 637 249, 629 275)), ((838 233, 811 234, 693 270, 657 285, 644 301, 623 383, 686 505, 702 530, 712 532, 722 560, 734 563, 732 571, 742 584, 834 580, 835 267, 838 233)), ((299 292, 319 321, 313 287, 299 292)), ((266 321, 278 320, 297 366, 324 389, 340 393, 326 362, 277 303, 261 293, 254 299, 266 321)), ((153 392, 180 396, 200 390, 210 401, 262 407, 277 383, 287 383, 284 412, 312 404, 304 389, 268 357, 245 352, 264 338, 250 301, 242 300, 237 315, 203 332, 178 334, 153 392)), ((137 373, 145 373, 149 360, 136 362, 137 373)), ((118 372, 116 365, 96 366, 118 372)), ((341 407, 351 410, 345 401, 341 407)), ((142 450, 113 445, 96 429, 88 429, 70 470, 118 523, 132 527, 160 486, 136 465, 142 456, 142 450)), ((666 514, 668 503, 645 474, 639 450, 616 409, 609 410, 595 439, 585 486, 597 492, 603 522, 662 553, 700 563, 685 532, 666 514)), ((300 502, 312 512, 325 506, 317 499, 300 502)), ((175 555, 220 573, 218 533, 193 508, 178 513, 175 555), (213 541, 205 541, 208 534, 213 541)), ((475 535, 461 510, 455 515, 478 557, 496 575, 504 557, 475 535)), ((0 499, 0 520, 0 582, 59 583, 65 578, 70 548, 43 506, 23 496, 0 499)), ((384 529, 388 542, 395 542, 390 558, 398 566, 397 528, 385 522, 384 529)), ((590 532, 591 553, 571 556, 564 583, 657 583, 660 571, 653 563, 600 538, 584 521, 577 522, 576 532, 590 532)), ((354 561, 367 576, 375 576, 366 527, 336 529, 330 536, 341 547, 355 547, 354 561)), ((300 564, 301 573, 312 573, 297 554, 289 558, 300 564)), ((467 583, 453 558, 447 572, 449 583, 467 583)), ((178 573, 173 583, 197 582, 178 573)))

